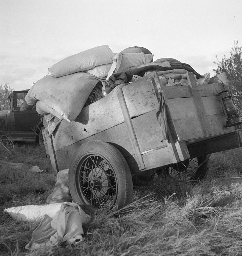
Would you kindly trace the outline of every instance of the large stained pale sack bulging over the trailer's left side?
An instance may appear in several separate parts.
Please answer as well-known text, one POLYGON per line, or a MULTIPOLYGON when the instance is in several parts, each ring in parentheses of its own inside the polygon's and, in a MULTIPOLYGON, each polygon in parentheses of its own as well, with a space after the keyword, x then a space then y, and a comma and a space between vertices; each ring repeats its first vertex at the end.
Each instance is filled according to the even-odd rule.
POLYGON ((25 101, 34 105, 37 100, 42 101, 36 106, 39 114, 48 113, 54 116, 74 121, 85 105, 89 94, 101 79, 85 73, 54 78, 47 75, 38 80, 28 91, 25 101), (44 110, 41 109, 44 106, 44 110))

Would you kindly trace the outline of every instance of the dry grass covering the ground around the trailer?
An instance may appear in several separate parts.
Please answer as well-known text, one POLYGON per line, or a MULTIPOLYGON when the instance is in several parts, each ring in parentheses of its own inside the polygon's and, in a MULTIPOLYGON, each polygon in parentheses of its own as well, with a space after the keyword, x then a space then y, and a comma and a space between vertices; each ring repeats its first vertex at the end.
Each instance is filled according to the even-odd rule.
MULTIPOLYGON (((15 145, 14 155, 0 150, 0 162, 24 164, 21 171, 1 165, 1 255, 48 255, 24 249, 38 223, 15 222, 2 213, 45 203, 54 181, 44 149, 15 145), (32 165, 44 172, 29 172, 32 165)), ((103 209, 84 227, 79 245, 52 255, 242 255, 242 178, 230 178, 242 177, 241 164, 239 150, 216 153, 208 179, 196 186, 157 178, 149 188, 135 188, 124 214, 103 209)))

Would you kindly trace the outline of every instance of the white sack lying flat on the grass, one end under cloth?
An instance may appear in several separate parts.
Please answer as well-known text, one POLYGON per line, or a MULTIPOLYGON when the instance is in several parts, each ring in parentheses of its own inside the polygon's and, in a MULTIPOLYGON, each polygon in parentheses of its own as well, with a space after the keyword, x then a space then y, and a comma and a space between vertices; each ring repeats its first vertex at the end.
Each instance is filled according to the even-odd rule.
POLYGON ((4 211, 16 221, 37 220, 43 218, 45 214, 54 218, 62 205, 63 203, 25 205, 7 208, 4 211))

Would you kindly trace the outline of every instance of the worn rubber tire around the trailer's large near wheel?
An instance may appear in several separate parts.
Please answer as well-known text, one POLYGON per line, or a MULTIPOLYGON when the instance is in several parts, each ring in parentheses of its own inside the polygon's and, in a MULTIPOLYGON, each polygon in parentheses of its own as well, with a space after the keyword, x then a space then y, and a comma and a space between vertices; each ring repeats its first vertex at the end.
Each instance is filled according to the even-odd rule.
POLYGON ((77 177, 78 166, 81 165, 82 159, 88 155, 103 157, 113 168, 114 175, 116 176, 117 195, 112 208, 120 209, 130 204, 132 201, 133 183, 128 164, 123 155, 114 146, 101 140, 85 142, 73 156, 69 168, 69 187, 73 202, 80 204, 87 214, 95 213, 98 210, 98 208, 91 204, 86 204, 82 198, 81 189, 78 187, 78 184, 80 184, 77 177))

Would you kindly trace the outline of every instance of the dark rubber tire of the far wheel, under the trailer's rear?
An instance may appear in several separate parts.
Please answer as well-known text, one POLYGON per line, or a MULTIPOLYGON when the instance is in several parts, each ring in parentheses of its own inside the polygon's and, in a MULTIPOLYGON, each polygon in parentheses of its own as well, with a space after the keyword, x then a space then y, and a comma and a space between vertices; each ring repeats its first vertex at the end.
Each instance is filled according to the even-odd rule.
MULTIPOLYGON (((197 157, 197 166, 198 166, 199 164, 201 164, 207 157, 208 157, 208 155, 197 157)), ((196 157, 194 157, 194 158, 196 158, 196 157)), ((193 184, 197 184, 199 181, 204 180, 204 179, 207 178, 208 173, 209 173, 209 169, 210 169, 210 160, 209 160, 209 158, 208 158, 208 159, 196 170, 196 172, 194 173, 194 175, 189 178, 189 180, 190 180, 193 184)))

